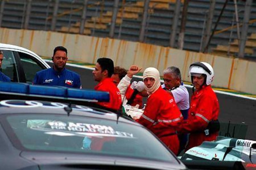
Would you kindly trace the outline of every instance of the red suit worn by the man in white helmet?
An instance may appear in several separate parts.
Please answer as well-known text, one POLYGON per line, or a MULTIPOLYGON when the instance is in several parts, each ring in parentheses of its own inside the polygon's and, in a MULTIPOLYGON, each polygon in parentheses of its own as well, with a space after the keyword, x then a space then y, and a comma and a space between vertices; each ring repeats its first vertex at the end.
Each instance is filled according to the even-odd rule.
POLYGON ((219 116, 219 102, 211 85, 202 86, 191 97, 188 119, 183 120, 178 130, 181 133, 190 133, 186 151, 202 144, 203 141, 215 140, 218 132, 207 134, 204 132, 208 123, 217 120, 219 116))

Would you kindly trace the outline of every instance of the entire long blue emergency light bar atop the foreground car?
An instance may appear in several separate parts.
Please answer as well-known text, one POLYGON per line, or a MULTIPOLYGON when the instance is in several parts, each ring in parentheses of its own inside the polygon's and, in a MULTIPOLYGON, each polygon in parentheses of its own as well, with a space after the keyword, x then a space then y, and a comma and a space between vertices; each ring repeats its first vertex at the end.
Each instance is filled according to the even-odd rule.
POLYGON ((108 92, 14 82, 0 82, 0 93, 91 102, 109 101, 108 92))

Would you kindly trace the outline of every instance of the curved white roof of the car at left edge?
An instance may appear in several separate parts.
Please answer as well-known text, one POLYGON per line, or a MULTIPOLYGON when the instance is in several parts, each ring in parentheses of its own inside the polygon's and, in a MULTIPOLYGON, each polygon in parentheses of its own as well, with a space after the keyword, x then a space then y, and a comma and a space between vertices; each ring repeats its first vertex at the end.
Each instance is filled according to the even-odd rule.
POLYGON ((33 51, 30 51, 27 48, 23 48, 23 47, 12 45, 12 44, 0 43, 0 49, 1 50, 11 50, 11 51, 18 51, 18 52, 26 53, 26 54, 31 55, 31 56, 35 57, 36 59, 40 60, 45 65, 46 68, 50 68, 51 67, 39 55, 37 55, 33 51))

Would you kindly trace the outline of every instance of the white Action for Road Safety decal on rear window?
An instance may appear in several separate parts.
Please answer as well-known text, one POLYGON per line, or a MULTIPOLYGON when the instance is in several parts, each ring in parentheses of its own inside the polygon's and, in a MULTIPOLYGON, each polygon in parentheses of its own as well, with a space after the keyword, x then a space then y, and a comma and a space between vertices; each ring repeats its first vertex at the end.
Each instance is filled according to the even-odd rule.
MULTIPOLYGON (((42 120, 44 121, 44 120, 42 120)), ((60 122, 49 121, 46 126, 36 126, 36 124, 30 127, 34 130, 45 131, 45 134, 57 135, 57 136, 90 136, 90 137, 123 137, 123 138, 135 138, 132 133, 117 131, 111 126, 90 124, 90 123, 75 123, 75 122, 60 122)))

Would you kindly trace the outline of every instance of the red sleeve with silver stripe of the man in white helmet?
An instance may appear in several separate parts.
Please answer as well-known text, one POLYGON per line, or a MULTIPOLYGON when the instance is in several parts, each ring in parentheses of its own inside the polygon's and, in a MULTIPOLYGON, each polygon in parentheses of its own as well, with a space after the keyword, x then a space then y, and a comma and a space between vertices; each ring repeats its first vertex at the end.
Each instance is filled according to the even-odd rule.
POLYGON ((191 108, 187 120, 183 120, 178 130, 181 133, 188 133, 194 131, 202 131, 212 120, 214 101, 210 96, 202 97, 197 107, 193 108, 193 102, 191 101, 191 108))

